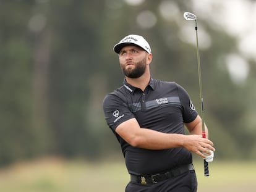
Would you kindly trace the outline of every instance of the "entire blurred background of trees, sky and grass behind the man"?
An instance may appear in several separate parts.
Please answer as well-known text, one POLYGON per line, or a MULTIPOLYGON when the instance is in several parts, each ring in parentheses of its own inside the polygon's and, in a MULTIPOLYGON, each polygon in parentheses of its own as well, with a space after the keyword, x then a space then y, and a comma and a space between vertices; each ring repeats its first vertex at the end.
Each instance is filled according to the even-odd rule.
POLYGON ((144 36, 153 52, 152 77, 182 85, 200 111, 195 23, 183 19, 186 11, 198 18, 205 121, 216 148, 213 166, 224 170, 231 166, 227 162, 236 162, 231 170, 238 165, 252 170, 256 1, 0 0, 4 191, 124 191, 129 175, 102 110, 105 95, 124 79, 113 46, 129 34, 144 36), (108 180, 109 175, 86 176, 93 170, 104 175, 105 169, 116 173, 105 190, 83 185, 108 180), (117 179, 124 183, 119 188, 111 185, 117 179))

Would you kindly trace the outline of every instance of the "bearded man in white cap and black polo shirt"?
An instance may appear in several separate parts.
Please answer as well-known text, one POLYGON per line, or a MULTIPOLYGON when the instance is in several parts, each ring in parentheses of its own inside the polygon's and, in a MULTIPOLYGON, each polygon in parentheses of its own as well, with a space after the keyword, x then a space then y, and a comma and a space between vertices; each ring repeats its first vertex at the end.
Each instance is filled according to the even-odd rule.
POLYGON ((215 149, 207 127, 202 138, 189 94, 177 83, 151 78, 151 48, 142 36, 126 36, 114 51, 126 78, 107 94, 103 110, 130 173, 126 191, 197 191, 191 152, 212 161, 215 149))

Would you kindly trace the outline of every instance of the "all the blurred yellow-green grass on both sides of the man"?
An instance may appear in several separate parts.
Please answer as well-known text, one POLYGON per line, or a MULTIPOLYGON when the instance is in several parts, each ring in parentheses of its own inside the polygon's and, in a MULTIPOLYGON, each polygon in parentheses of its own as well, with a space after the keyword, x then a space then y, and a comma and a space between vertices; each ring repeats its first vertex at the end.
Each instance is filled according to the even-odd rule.
MULTIPOLYGON (((210 177, 203 176, 203 162, 194 162, 198 192, 237 192, 256 189, 255 162, 215 161, 209 164, 210 177)), ((129 182, 124 161, 65 161, 51 158, 20 162, 0 169, 2 192, 115 192, 129 182)))

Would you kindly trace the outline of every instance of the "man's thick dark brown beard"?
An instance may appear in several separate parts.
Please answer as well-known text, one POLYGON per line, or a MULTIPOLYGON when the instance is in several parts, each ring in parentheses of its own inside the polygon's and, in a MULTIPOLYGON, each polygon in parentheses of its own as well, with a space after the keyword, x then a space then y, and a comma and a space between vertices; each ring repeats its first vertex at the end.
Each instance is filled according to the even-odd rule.
POLYGON ((147 61, 147 58, 142 59, 142 61, 135 63, 134 69, 126 69, 126 66, 122 65, 122 72, 124 73, 124 75, 126 75, 126 77, 139 78, 145 73, 146 61, 147 61))

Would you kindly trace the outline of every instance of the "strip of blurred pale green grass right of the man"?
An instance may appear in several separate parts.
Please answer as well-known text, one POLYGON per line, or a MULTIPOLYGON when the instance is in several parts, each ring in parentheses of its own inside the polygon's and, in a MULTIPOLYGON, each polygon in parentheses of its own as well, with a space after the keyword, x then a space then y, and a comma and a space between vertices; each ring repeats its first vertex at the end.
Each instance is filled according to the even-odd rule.
POLYGON ((210 176, 203 176, 203 162, 195 162, 197 170, 198 192, 207 191, 254 191, 254 161, 215 161, 209 163, 210 176))

